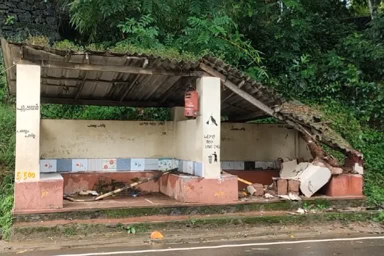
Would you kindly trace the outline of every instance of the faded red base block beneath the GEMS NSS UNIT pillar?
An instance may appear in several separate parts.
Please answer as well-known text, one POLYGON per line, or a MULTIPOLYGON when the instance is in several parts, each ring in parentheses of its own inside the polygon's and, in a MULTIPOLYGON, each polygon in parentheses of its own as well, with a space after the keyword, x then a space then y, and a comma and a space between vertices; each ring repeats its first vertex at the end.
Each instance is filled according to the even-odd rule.
POLYGON ((237 176, 203 178, 167 174, 160 178, 160 192, 181 202, 223 203, 237 201, 237 176))

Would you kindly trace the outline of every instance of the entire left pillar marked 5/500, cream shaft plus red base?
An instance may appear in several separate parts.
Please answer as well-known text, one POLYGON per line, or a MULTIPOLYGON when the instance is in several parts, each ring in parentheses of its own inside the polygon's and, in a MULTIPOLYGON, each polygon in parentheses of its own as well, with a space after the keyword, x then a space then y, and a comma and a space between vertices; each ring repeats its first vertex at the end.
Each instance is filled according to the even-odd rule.
POLYGON ((14 213, 61 208, 63 179, 40 176, 40 66, 16 65, 14 213))

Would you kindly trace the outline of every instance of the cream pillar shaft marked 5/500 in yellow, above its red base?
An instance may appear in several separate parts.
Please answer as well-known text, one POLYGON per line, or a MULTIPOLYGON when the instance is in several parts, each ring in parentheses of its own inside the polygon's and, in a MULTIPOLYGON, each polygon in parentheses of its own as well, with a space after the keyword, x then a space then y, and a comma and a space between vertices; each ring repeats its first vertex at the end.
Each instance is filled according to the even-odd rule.
POLYGON ((39 180, 40 66, 16 65, 15 182, 39 180))

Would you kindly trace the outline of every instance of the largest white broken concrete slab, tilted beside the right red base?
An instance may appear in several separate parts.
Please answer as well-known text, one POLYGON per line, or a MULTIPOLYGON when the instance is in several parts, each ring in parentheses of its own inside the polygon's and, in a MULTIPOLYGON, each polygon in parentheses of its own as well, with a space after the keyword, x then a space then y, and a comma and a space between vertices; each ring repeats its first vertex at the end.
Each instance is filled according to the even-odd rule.
POLYGON ((298 176, 301 192, 306 197, 310 197, 329 181, 330 176, 331 173, 327 167, 309 163, 308 167, 302 170, 298 176))

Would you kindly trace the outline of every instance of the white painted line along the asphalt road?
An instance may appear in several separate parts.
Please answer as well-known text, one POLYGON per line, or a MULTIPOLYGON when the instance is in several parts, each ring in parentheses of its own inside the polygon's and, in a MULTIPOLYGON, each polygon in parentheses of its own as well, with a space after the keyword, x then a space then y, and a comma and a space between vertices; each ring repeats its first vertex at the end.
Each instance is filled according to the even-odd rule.
POLYGON ((255 242, 255 243, 223 244, 223 245, 213 245, 213 246, 182 247, 182 248, 167 248, 167 249, 125 250, 125 251, 90 252, 90 253, 78 253, 78 254, 56 254, 56 255, 51 255, 51 256, 97 256, 97 255, 115 255, 115 254, 163 252, 163 251, 177 251, 177 250, 219 249, 219 248, 228 248, 228 247, 246 247, 246 246, 293 244, 293 243, 308 243, 308 242, 355 241, 355 240, 370 240, 370 239, 384 239, 384 236, 365 236, 365 237, 353 237, 353 238, 328 238, 328 239, 279 241, 279 242, 255 242))

